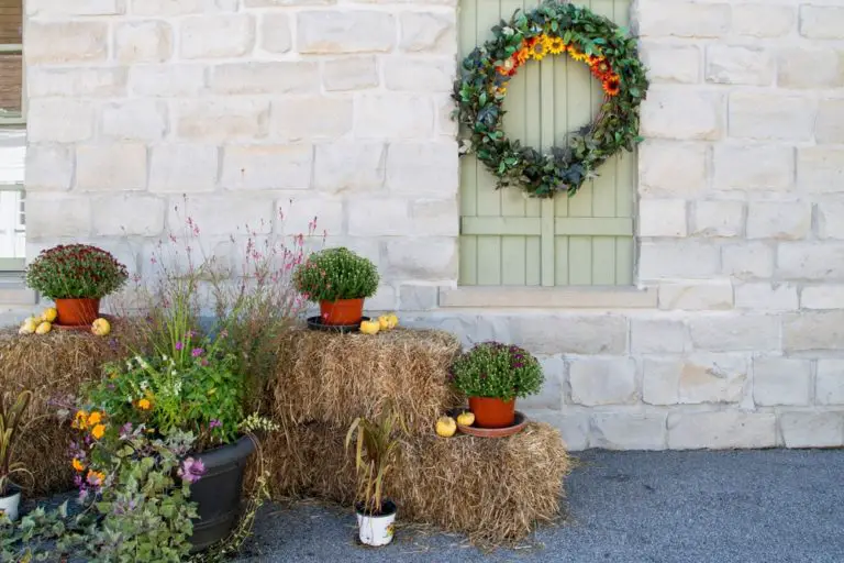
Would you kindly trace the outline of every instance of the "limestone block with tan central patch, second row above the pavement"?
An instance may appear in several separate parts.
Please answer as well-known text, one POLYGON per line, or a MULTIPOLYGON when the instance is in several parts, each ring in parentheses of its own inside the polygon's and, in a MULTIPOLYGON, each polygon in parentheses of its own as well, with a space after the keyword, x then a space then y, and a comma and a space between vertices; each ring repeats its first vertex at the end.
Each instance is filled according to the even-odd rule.
POLYGON ((649 405, 738 402, 747 380, 741 355, 697 353, 685 358, 646 358, 643 400, 649 405))

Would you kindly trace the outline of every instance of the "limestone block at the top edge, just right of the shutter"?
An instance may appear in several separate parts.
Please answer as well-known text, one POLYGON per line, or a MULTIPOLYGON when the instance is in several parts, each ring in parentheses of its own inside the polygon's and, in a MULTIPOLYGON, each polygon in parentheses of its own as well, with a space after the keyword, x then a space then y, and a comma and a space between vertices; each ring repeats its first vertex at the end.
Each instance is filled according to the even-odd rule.
POLYGON ((648 0, 637 5, 643 37, 720 37, 730 30, 728 3, 648 0))

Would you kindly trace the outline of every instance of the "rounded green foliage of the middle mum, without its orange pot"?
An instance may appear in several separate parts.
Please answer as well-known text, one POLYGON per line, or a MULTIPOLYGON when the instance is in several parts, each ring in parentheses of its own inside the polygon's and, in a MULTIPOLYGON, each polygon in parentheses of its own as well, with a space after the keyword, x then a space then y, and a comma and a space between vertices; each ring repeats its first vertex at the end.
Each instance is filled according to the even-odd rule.
POLYGON ((314 302, 371 297, 378 280, 375 264, 345 247, 312 254, 293 274, 296 288, 314 302))

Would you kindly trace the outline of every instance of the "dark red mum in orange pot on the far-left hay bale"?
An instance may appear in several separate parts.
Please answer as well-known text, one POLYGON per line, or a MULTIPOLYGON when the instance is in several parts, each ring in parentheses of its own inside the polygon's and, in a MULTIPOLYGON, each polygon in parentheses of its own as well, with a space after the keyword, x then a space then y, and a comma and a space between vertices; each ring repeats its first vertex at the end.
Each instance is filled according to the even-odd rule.
POLYGON ((100 314, 100 299, 126 283, 126 267, 111 253, 87 244, 43 251, 26 268, 26 284, 55 301, 58 324, 91 324, 100 314))

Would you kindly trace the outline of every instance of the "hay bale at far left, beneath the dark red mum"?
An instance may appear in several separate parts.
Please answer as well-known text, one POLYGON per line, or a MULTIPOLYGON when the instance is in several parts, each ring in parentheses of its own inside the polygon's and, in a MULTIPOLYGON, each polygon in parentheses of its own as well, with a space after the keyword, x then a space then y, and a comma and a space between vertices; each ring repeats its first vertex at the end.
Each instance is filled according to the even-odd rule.
POLYGON ((45 335, 19 335, 16 329, 0 331, 0 389, 33 391, 29 416, 38 419, 30 426, 16 449, 16 459, 32 473, 27 494, 46 495, 67 490, 73 471, 65 459, 71 439, 68 426, 56 419, 53 401, 76 395, 79 387, 99 379, 104 363, 129 355, 136 344, 135 333, 115 323, 111 338, 88 332, 55 330, 45 335))

